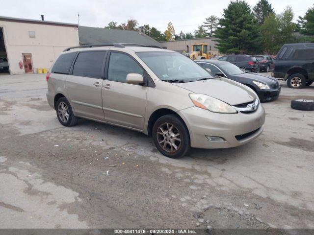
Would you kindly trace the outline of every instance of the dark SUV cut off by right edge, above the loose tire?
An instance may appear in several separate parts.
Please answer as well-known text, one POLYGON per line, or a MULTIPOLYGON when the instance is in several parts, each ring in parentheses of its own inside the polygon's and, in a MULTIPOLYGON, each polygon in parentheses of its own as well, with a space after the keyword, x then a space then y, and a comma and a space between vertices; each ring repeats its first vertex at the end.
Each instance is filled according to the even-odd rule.
POLYGON ((289 88, 310 86, 314 82, 314 43, 285 44, 271 75, 287 81, 289 88))

